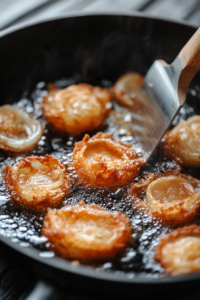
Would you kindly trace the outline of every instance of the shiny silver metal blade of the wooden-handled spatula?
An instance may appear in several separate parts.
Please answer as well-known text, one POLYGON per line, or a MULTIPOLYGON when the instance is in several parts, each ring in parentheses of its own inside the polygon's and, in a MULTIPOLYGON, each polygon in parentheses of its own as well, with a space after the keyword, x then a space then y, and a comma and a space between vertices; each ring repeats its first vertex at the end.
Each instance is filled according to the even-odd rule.
POLYGON ((137 97, 138 105, 134 105, 137 109, 132 116, 132 132, 147 159, 181 108, 177 92, 181 70, 178 57, 171 65, 155 61, 137 97))

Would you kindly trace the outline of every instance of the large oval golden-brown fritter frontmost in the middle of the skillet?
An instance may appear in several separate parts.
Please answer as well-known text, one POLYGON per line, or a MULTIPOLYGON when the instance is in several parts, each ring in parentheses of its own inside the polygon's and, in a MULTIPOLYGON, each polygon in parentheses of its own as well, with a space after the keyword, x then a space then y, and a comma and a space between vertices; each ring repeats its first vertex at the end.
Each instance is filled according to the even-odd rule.
POLYGON ((123 253, 131 239, 126 215, 84 201, 60 210, 50 209, 42 233, 57 255, 82 263, 112 260, 123 253))

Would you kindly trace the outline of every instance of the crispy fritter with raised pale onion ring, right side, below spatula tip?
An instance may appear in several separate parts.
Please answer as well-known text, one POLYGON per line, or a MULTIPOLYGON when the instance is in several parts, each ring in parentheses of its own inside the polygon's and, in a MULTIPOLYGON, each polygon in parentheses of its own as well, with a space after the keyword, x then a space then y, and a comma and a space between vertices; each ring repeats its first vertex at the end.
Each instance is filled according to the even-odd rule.
POLYGON ((180 169, 148 174, 129 194, 137 209, 174 225, 191 221, 200 207, 200 181, 180 169))

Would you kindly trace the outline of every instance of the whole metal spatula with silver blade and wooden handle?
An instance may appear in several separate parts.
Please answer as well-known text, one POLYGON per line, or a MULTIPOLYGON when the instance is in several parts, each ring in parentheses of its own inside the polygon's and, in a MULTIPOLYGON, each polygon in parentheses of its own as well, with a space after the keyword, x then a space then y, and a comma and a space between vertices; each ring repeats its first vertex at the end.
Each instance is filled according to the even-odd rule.
POLYGON ((200 70, 200 28, 168 65, 156 60, 139 92, 138 111, 133 113, 133 133, 148 159, 186 100, 186 92, 200 70), (135 118, 134 118, 135 116, 135 118))

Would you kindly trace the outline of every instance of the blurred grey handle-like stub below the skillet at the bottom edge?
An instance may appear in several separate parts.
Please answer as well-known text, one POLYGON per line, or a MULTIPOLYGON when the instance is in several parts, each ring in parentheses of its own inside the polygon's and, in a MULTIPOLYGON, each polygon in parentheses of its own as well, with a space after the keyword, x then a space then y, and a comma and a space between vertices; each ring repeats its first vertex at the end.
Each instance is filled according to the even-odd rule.
MULTIPOLYGON (((51 300, 56 288, 49 282, 39 280, 25 300, 51 300)), ((54 294, 55 296, 55 294, 54 294)))

